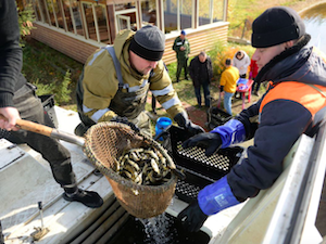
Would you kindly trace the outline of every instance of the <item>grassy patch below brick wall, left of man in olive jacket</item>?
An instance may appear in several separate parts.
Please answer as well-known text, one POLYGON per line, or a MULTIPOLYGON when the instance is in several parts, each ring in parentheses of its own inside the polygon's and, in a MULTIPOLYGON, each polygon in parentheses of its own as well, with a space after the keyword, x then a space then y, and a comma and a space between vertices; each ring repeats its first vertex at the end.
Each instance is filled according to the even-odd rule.
POLYGON ((26 79, 38 87, 37 94, 54 94, 58 105, 75 104, 75 89, 83 64, 35 40, 23 48, 26 79))

